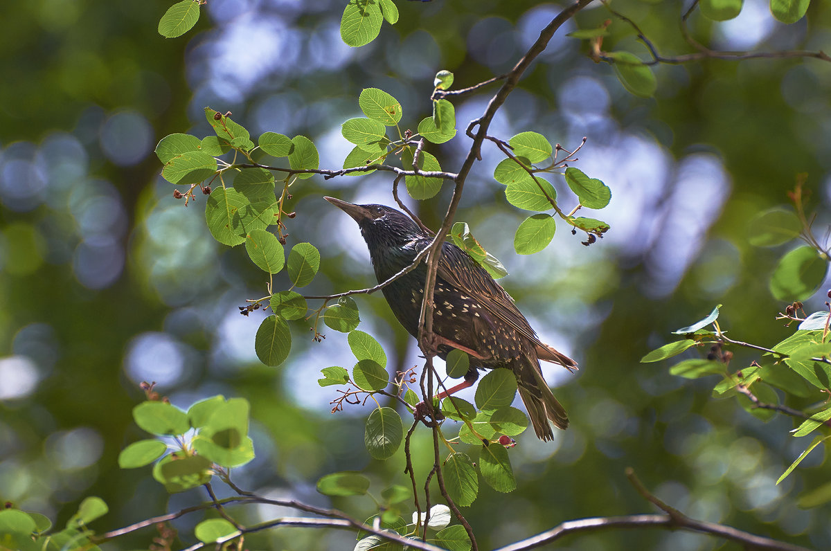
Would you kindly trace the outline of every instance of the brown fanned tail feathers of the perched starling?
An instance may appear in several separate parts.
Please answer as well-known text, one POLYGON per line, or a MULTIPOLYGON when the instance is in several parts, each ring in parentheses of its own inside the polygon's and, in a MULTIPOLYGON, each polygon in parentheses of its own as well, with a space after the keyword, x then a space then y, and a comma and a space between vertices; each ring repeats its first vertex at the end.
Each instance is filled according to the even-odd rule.
POLYGON ((568 413, 563 404, 554 397, 548 383, 543 379, 539 362, 528 358, 519 369, 514 370, 519 386, 519 397, 528 410, 534 432, 540 440, 553 440, 554 434, 548 421, 559 429, 568 427, 568 413))

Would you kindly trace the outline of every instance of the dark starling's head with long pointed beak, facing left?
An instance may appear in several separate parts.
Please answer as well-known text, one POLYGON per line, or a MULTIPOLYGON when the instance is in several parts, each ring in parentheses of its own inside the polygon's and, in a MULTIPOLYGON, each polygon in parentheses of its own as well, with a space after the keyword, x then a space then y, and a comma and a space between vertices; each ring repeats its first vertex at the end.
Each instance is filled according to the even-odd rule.
POLYGON ((334 197, 323 199, 352 216, 370 251, 377 246, 401 246, 412 239, 430 237, 400 210, 383 204, 352 204, 334 197))

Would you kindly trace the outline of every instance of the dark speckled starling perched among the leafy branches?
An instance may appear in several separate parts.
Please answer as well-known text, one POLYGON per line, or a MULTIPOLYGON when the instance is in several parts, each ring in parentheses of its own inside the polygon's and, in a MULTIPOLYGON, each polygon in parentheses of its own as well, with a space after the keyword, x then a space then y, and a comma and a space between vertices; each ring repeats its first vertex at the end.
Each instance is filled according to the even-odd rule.
MULTIPOLYGON (((430 233, 400 210, 383 204, 323 199, 349 214, 358 224, 378 283, 409 266, 433 241, 430 233)), ((416 338, 426 270, 426 263, 421 262, 411 272, 381 288, 398 321, 416 338)), ((568 414, 543 379, 539 360, 557 363, 569 371, 577 369, 577 362, 541 342, 514 299, 453 243, 442 244, 433 293, 433 332, 438 356, 445 359, 457 348, 470 357, 465 381, 438 397, 472 386, 479 369, 506 368, 514 372, 519 396, 537 437, 553 440, 548 421, 566 429, 568 414)))

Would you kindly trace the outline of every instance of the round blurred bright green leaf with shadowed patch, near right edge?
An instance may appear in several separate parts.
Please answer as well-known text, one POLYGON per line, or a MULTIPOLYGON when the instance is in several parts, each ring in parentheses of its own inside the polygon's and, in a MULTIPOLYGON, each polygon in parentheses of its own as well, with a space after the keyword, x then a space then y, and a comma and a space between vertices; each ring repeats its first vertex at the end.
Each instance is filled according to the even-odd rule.
POLYGON ((785 254, 770 278, 770 293, 777 300, 794 302, 814 294, 825 278, 828 261, 804 245, 785 254))

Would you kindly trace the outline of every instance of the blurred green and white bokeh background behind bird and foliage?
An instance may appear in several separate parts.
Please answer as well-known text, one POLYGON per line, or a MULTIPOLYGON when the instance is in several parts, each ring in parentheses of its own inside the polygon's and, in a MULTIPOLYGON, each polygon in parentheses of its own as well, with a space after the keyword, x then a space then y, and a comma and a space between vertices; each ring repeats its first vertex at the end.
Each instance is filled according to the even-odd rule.
MULTIPOLYGON (((252 135, 307 135, 323 168, 340 168, 352 145, 342 121, 359 116, 357 96, 379 87, 401 101, 402 125, 430 114, 436 71, 455 86, 502 73, 561 7, 512 0, 397 2, 401 20, 352 49, 339 35, 342 1, 209 0, 194 31, 156 32, 167 2, 32 0, 8 2, 0 17, 0 497, 62 524, 86 495, 111 512, 103 532, 204 499, 169 496, 150 469, 120 470, 118 452, 143 433, 130 410, 141 381, 186 408, 206 396, 243 396, 253 406, 257 457, 238 469, 239 485, 262 494, 334 505, 357 517, 369 498, 317 494, 318 477, 365 470, 372 491, 405 483, 403 461, 385 464, 363 448, 359 406, 332 415, 322 367, 352 367, 346 336, 325 331, 312 342, 293 322, 293 352, 264 367, 253 350, 262 312, 240 316, 246 298, 266 294, 263 273, 242 248, 214 242, 204 196, 185 207, 160 177, 153 154, 173 132, 209 135, 203 108, 233 111, 252 135)), ((622 0, 666 55, 690 52, 680 14, 689 2, 622 0)), ((595 64, 585 43, 565 37, 611 14, 599 2, 568 22, 534 63, 491 126, 508 139, 535 130, 567 149, 588 143, 577 166, 612 189, 594 215, 611 224, 583 247, 561 225, 553 243, 530 257, 513 251, 529 213, 511 207, 492 178, 500 153, 486 144, 465 186, 457 219, 509 270, 502 280, 543 340, 575 357, 576 376, 547 370, 572 419, 552 443, 523 435, 511 450, 519 488, 487 487, 469 516, 482 549, 508 544, 586 516, 650 512, 627 483, 632 466, 662 499, 699 519, 730 524, 816 549, 831 548, 829 506, 800 507, 801 495, 831 481, 822 446, 780 485, 775 480, 808 442, 788 434, 784 416, 762 422, 735 400, 710 396, 716 380, 670 376, 641 364, 669 332, 723 303, 722 327, 740 340, 772 346, 793 332, 774 321, 784 308, 768 290, 788 246, 752 248, 746 225, 787 202, 807 173, 817 234, 825 235, 831 170, 831 63, 807 58, 696 61, 655 68, 658 91, 625 91, 612 68, 595 64)), ((814 0, 808 17, 785 26, 763 0, 740 17, 691 31, 725 50, 831 49, 831 9, 814 0)), ((647 58, 631 27, 615 20, 603 46, 647 58)), ((469 147, 463 136, 495 88, 456 101, 460 134, 429 145, 447 170, 469 147)), ((391 203, 388 175, 302 180, 289 208, 297 218, 288 244, 321 250, 322 272, 306 288, 323 294, 372 283, 351 219, 322 200, 332 194, 391 203)), ((568 188, 555 180, 563 206, 568 188)), ((450 186, 415 205, 436 227, 450 186)), ((413 204, 414 202, 411 202, 413 204)), ((593 216, 593 214, 584 214, 593 216)), ((284 274, 275 288, 288 288, 284 274)), ((806 304, 823 307, 824 290, 806 304)), ((358 299, 361 330, 375 335, 397 368, 420 366, 408 337, 380 295, 358 299)), ((736 354, 733 366, 755 355, 736 354)), ((464 395, 463 395, 464 396, 464 395)), ((799 406, 799 405, 798 405, 799 406)), ((416 437, 417 474, 432 444, 416 437)), ((466 446, 460 446, 464 449, 466 446)), ((219 485, 218 485, 219 486, 219 485)), ((219 489, 221 490, 221 489, 219 489)), ((247 521, 288 511, 238 511, 247 521)), ((293 513, 292 513, 293 514, 293 513)), ((199 515, 175 526, 192 544, 199 515)), ((141 549, 152 529, 106 544, 141 549)), ((247 539, 248 549, 352 549, 346 532, 275 529, 247 539)), ((730 549, 719 540, 660 530, 584 535, 561 549, 730 549)))

